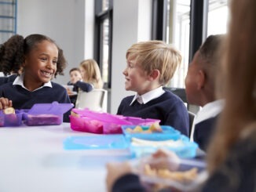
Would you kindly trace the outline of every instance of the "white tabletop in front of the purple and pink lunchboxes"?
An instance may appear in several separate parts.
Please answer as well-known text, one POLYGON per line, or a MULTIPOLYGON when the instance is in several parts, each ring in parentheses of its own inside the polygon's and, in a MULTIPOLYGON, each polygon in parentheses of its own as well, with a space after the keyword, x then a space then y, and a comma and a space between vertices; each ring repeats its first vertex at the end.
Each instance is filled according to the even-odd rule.
POLYGON ((126 152, 64 150, 64 139, 82 135, 93 134, 75 132, 68 123, 0 127, 0 191, 106 191, 106 161, 123 161, 126 152))

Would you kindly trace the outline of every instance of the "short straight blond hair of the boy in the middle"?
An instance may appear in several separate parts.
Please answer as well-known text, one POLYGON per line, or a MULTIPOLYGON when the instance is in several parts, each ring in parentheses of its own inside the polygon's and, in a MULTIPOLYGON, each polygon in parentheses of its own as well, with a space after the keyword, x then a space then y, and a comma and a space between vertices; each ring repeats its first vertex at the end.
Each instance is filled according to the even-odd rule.
POLYGON ((126 52, 126 60, 136 60, 146 74, 159 70, 161 85, 170 82, 181 59, 181 53, 172 45, 156 40, 135 43, 126 52))

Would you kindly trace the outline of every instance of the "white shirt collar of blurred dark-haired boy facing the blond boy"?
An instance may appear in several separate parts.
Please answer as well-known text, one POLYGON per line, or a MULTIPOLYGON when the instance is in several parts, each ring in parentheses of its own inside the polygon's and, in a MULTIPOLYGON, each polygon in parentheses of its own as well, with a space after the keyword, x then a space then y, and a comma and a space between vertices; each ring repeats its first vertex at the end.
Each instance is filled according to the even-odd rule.
POLYGON ((191 141, 194 140, 193 136, 195 132, 195 125, 201 121, 207 120, 208 118, 216 117, 218 114, 221 113, 221 110, 223 109, 224 104, 225 104, 224 100, 214 100, 213 102, 207 103, 205 106, 202 107, 201 110, 197 112, 192 125, 192 131, 190 135, 191 141))

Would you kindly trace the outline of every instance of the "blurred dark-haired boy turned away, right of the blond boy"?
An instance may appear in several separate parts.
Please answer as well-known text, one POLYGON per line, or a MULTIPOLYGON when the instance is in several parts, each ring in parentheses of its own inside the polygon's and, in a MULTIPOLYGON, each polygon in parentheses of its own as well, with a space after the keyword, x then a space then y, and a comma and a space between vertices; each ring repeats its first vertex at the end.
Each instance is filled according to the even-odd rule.
MULTIPOLYGON (((188 103, 203 107, 196 114, 192 127, 192 140, 202 150, 207 149, 218 114, 223 107, 223 100, 216 97, 215 82, 218 71, 219 51, 224 35, 210 35, 196 52, 188 65, 185 78, 188 103)), ((219 77, 218 77, 219 78, 219 77)))

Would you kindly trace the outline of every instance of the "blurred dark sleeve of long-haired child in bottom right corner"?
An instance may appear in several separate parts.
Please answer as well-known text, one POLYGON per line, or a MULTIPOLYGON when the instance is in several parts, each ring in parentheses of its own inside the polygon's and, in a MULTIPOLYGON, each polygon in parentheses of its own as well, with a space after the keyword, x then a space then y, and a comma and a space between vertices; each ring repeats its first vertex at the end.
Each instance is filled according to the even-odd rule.
POLYGON ((210 175, 201 191, 256 191, 256 126, 245 131, 247 134, 242 132, 226 160, 210 175))

